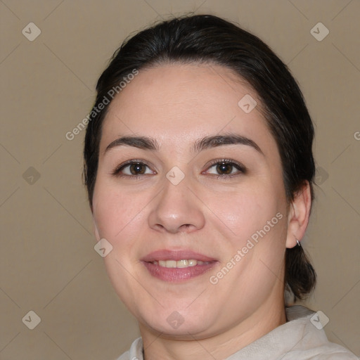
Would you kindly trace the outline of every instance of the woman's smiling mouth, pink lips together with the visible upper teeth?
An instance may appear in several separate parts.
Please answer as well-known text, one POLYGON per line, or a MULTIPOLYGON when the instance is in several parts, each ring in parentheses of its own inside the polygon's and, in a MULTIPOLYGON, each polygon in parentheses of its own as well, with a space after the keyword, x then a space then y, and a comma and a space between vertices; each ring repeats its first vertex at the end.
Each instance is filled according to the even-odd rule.
POLYGON ((158 250, 141 259, 148 273, 162 281, 184 282, 210 271, 216 259, 188 250, 158 250))

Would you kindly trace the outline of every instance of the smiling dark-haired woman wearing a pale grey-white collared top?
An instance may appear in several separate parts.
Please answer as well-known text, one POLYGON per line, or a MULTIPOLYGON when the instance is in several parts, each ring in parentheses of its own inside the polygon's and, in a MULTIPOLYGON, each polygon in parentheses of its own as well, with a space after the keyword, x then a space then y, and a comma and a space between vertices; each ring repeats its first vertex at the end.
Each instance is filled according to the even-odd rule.
POLYGON ((212 15, 175 18, 124 43, 96 89, 85 181, 141 332, 120 359, 356 359, 284 299, 316 281, 300 245, 314 129, 269 47, 212 15))

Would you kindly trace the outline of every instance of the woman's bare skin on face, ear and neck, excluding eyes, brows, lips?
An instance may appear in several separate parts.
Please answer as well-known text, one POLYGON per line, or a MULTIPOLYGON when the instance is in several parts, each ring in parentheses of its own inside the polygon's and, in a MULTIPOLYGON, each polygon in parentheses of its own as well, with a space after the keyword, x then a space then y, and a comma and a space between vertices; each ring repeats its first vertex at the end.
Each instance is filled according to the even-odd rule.
MULTIPOLYGON (((141 70, 110 104, 103 124, 93 214, 96 239, 120 299, 139 321, 146 359, 224 359, 285 323, 285 248, 304 236, 309 186, 288 204, 280 155, 255 91, 214 64, 172 64, 141 70), (238 106, 250 94, 257 106, 238 106), (262 150, 232 144, 193 152, 204 136, 236 133, 262 150), (120 136, 148 136, 159 150, 105 148, 120 136), (240 162, 221 175, 212 160, 240 162), (115 176, 127 160, 145 174, 115 176), (166 174, 179 167, 184 179, 166 174), (221 175, 221 178, 217 178, 221 175), (210 282, 248 239, 276 214, 283 217, 259 238, 217 284, 210 282), (140 261, 160 249, 193 250, 217 260, 207 273, 172 283, 151 276, 140 261), (184 322, 173 328, 170 314, 184 322)), ((131 174, 129 167, 123 174, 131 174)), ((267 229, 267 228, 266 228, 267 229)))

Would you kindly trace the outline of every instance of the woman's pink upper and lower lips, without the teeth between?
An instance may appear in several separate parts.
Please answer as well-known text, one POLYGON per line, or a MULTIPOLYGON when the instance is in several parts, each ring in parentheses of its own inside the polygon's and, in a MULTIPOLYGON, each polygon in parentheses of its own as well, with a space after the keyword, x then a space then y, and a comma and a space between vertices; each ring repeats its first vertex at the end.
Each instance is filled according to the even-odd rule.
POLYGON ((212 269, 215 264, 217 264, 217 259, 207 257, 206 255, 193 252, 191 250, 164 249, 150 252, 150 254, 141 259, 141 262, 143 262, 151 276, 169 283, 182 283, 197 276, 203 275, 207 271, 210 271, 210 269, 212 269), (158 264, 153 264, 153 262, 159 260, 178 261, 183 259, 199 260, 202 262, 207 262, 207 264, 197 264, 195 266, 189 266, 186 268, 167 268, 164 266, 159 266, 158 264))

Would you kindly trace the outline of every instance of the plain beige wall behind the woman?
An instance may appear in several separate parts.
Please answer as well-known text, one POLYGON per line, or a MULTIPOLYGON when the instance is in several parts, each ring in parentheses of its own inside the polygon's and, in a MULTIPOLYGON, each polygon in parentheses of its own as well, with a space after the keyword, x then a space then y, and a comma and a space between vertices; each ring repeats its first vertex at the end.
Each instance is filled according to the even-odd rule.
POLYGON ((359 0, 2 0, 0 11, 1 359, 115 359, 139 335, 94 251, 84 131, 65 133, 128 34, 189 11, 240 23, 300 82, 319 183, 303 242, 319 275, 307 304, 330 319, 330 340, 360 355, 359 0), (30 22, 34 41, 22 34, 30 22), (319 22, 330 30, 322 41, 310 33, 319 22), (34 330, 22 321, 30 310, 41 318, 34 330))

